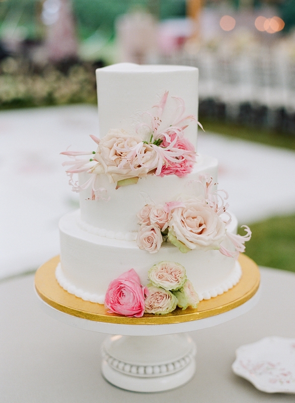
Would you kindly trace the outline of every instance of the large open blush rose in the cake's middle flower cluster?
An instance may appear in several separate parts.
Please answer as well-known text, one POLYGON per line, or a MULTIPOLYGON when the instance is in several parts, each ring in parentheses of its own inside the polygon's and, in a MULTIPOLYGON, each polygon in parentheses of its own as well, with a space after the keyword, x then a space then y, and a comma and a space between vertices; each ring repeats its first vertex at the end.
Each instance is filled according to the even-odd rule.
POLYGON ((189 249, 219 249, 226 235, 226 224, 199 199, 183 200, 185 207, 171 213, 169 231, 189 249))

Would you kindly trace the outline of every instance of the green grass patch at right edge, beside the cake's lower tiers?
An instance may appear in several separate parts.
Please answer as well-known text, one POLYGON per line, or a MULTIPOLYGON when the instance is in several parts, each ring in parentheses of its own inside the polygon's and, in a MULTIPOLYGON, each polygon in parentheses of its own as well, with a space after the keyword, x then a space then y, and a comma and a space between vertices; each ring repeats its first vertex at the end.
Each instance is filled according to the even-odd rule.
MULTIPOLYGON (((260 266, 295 272, 295 214, 272 217, 249 225, 252 237, 246 254, 260 266)), ((241 235, 245 232, 239 230, 241 235)))

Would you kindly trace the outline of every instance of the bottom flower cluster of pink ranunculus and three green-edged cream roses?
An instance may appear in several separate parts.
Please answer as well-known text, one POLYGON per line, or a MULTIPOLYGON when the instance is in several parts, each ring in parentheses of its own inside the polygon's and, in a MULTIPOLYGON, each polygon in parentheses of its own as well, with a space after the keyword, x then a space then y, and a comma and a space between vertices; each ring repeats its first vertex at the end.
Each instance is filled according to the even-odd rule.
POLYGON ((109 313, 141 317, 145 313, 165 315, 178 306, 197 308, 198 295, 186 277, 185 268, 173 261, 161 261, 150 268, 146 287, 133 268, 113 280, 106 292, 109 313))

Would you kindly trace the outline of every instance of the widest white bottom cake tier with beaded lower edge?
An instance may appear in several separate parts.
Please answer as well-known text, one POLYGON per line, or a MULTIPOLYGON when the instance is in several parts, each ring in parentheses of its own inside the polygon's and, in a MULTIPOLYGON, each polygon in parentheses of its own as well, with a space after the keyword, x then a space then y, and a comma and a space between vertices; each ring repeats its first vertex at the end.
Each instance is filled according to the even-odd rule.
MULTIPOLYGON (((67 292, 86 301, 103 304, 110 282, 130 268, 134 268, 141 284, 146 285, 149 269, 163 260, 185 267, 200 300, 223 294, 241 278, 238 261, 218 250, 181 253, 164 242, 157 253, 149 253, 139 249, 135 241, 102 237, 85 231, 79 223, 79 210, 66 214, 59 222, 61 253, 56 279, 67 292)), ((236 227, 233 218, 227 231, 235 232, 236 227)))

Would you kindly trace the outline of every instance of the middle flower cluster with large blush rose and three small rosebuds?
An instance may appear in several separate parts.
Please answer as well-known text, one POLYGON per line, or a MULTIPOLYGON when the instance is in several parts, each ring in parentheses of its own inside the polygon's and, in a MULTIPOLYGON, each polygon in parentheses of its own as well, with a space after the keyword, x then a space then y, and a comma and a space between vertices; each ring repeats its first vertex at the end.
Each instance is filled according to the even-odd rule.
POLYGON ((205 175, 200 175, 204 190, 203 198, 179 197, 164 205, 146 204, 137 214, 140 225, 137 234, 137 245, 150 253, 159 251, 164 241, 169 241, 182 253, 192 249, 216 249, 226 256, 238 258, 239 252, 245 251, 245 242, 251 238, 251 230, 247 225, 244 236, 227 231, 232 217, 227 211, 225 202, 228 193, 216 190, 216 183, 205 175), (223 197, 222 194, 225 194, 223 197), (222 242, 228 238, 235 250, 229 250, 222 242))

